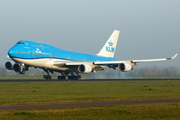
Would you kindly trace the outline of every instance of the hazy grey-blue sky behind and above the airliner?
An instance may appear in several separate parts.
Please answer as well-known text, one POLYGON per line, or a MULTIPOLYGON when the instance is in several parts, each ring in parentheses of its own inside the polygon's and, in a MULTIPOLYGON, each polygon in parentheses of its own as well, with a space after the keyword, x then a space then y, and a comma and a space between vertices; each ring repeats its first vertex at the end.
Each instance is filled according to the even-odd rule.
MULTIPOLYGON (((0 0, 0 64, 19 40, 97 54, 120 30, 117 60, 180 53, 180 0, 0 0)), ((180 66, 175 60, 138 66, 180 66)))

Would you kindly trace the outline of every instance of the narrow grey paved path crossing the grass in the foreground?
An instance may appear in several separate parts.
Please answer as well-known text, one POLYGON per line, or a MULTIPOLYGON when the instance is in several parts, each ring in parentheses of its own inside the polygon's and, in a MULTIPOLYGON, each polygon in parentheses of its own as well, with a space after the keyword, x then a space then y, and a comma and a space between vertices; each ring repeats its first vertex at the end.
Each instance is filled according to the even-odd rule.
POLYGON ((96 105, 142 104, 142 103, 169 103, 169 102, 180 102, 180 99, 109 101, 109 102, 86 102, 86 103, 59 103, 59 104, 37 104, 37 105, 16 105, 16 106, 0 106, 0 110, 54 108, 54 107, 73 107, 73 106, 96 106, 96 105))

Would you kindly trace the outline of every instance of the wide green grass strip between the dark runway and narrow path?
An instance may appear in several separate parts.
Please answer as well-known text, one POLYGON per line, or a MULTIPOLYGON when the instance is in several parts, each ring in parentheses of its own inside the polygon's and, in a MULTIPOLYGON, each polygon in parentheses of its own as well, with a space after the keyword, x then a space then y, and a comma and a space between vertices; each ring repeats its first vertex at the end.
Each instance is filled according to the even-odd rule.
POLYGON ((180 98, 180 81, 1 82, 0 105, 180 98))

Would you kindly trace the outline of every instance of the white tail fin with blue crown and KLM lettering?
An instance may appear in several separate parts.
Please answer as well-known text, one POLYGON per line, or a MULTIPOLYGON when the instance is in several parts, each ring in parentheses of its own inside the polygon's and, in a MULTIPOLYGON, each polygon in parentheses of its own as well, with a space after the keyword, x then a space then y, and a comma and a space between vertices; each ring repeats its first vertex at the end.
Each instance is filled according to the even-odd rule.
POLYGON ((114 30, 101 51, 97 54, 104 57, 114 57, 120 31, 114 30))

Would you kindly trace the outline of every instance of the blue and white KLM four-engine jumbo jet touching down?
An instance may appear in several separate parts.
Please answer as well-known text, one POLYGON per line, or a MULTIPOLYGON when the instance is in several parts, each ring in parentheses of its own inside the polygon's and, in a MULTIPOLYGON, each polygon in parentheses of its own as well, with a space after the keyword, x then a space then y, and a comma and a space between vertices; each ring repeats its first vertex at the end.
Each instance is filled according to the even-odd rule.
POLYGON ((120 31, 114 30, 103 48, 96 55, 72 52, 62 50, 57 47, 26 40, 18 41, 9 51, 8 62, 5 67, 8 70, 14 70, 19 74, 24 74, 29 67, 41 68, 47 75, 43 78, 51 79, 50 73, 59 72, 58 79, 79 79, 79 73, 96 73, 105 68, 118 68, 122 72, 128 72, 136 66, 136 63, 150 61, 164 61, 175 59, 176 55, 171 58, 146 59, 146 60, 125 60, 116 61, 114 54, 120 31))

